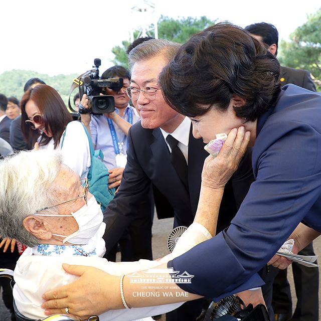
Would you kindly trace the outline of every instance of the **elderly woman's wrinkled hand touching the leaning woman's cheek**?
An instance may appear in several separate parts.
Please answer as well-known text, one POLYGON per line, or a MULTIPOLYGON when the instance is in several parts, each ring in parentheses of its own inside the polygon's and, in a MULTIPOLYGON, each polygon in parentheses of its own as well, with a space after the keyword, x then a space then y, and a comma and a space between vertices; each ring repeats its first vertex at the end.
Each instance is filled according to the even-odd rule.
POLYGON ((245 132, 243 126, 232 129, 217 157, 210 155, 205 159, 202 185, 215 189, 224 188, 237 170, 249 141, 250 132, 245 132))

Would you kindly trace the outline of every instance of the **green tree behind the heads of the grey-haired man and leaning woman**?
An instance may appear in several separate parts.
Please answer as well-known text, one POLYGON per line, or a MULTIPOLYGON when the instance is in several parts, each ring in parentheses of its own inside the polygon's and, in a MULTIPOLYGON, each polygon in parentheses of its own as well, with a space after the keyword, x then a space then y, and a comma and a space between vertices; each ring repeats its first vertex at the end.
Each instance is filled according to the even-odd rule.
MULTIPOLYGON (((191 36, 214 25, 215 22, 216 20, 210 20, 204 16, 199 19, 192 17, 174 19, 161 16, 157 23, 158 38, 168 39, 183 44, 190 39, 191 36)), ((137 34, 138 32, 135 32, 134 36, 137 36, 137 34)), ((153 32, 151 32, 149 36, 154 37, 153 32)), ((126 50, 129 44, 129 40, 124 40, 122 46, 113 47, 111 51, 115 55, 115 58, 112 62, 115 65, 121 65, 128 68, 126 50)))

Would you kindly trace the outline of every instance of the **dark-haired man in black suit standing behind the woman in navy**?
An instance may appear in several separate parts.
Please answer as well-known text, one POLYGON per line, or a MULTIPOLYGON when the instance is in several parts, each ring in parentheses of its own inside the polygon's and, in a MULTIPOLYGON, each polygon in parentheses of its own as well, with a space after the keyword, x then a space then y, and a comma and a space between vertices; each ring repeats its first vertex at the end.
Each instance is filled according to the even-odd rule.
MULTIPOLYGON (((253 37, 268 45, 269 51, 277 55, 278 31, 267 23, 257 23, 245 27, 253 37)), ((280 82, 282 86, 294 84, 302 88, 316 91, 315 85, 308 71, 281 66, 280 82)), ((314 255, 312 243, 298 254, 314 255)), ((290 285, 287 281, 287 270, 280 270, 273 282, 273 300, 276 321, 317 321, 318 320, 318 269, 303 265, 292 264, 295 292, 297 296, 296 308, 292 316, 292 300, 290 285), (309 297, 307 300, 306 298, 309 297)))

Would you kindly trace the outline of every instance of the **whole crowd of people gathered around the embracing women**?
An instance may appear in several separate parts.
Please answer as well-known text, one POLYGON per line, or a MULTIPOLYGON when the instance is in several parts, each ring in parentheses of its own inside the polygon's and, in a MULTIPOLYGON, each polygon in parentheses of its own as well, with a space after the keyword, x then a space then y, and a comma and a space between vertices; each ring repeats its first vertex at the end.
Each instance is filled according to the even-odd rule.
MULTIPOLYGON (((166 312, 167 321, 195 321, 230 293, 265 304, 270 320, 318 320, 318 269, 293 264, 292 315, 291 262, 275 253, 293 238, 294 253, 314 255, 321 232, 321 97, 307 71, 280 67, 277 45, 267 23, 217 24, 184 45, 138 39, 128 47, 129 70, 100 76, 122 79, 101 91, 114 111, 77 120, 38 78, 20 101, 0 94, 0 267, 17 264, 14 293, 7 280, 0 285, 13 321, 13 295, 16 313, 34 319, 166 312), (209 156, 205 144, 223 132, 221 151, 209 156), (88 191, 91 145, 108 170, 106 190, 116 191, 103 212, 88 191), (160 260, 152 260, 154 210, 189 227, 160 260), (112 263, 118 250, 132 263, 112 263), (63 271, 63 263, 73 265, 63 271), (193 281, 173 286, 172 296, 156 295, 157 283, 154 295, 133 295, 141 284, 131 277, 151 268, 169 278, 186 271, 193 281)), ((86 94, 73 102, 76 111, 90 108, 86 94)))

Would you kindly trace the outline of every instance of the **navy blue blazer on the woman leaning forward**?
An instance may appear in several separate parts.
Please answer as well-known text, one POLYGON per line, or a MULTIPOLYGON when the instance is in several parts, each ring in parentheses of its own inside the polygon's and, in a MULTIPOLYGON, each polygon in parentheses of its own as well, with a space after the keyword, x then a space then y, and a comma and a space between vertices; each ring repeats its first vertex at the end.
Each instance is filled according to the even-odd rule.
POLYGON ((259 286, 255 273, 298 223, 321 232, 320 93, 282 88, 258 119, 252 167, 256 180, 230 227, 169 262, 195 275, 183 289, 217 299, 259 286))

